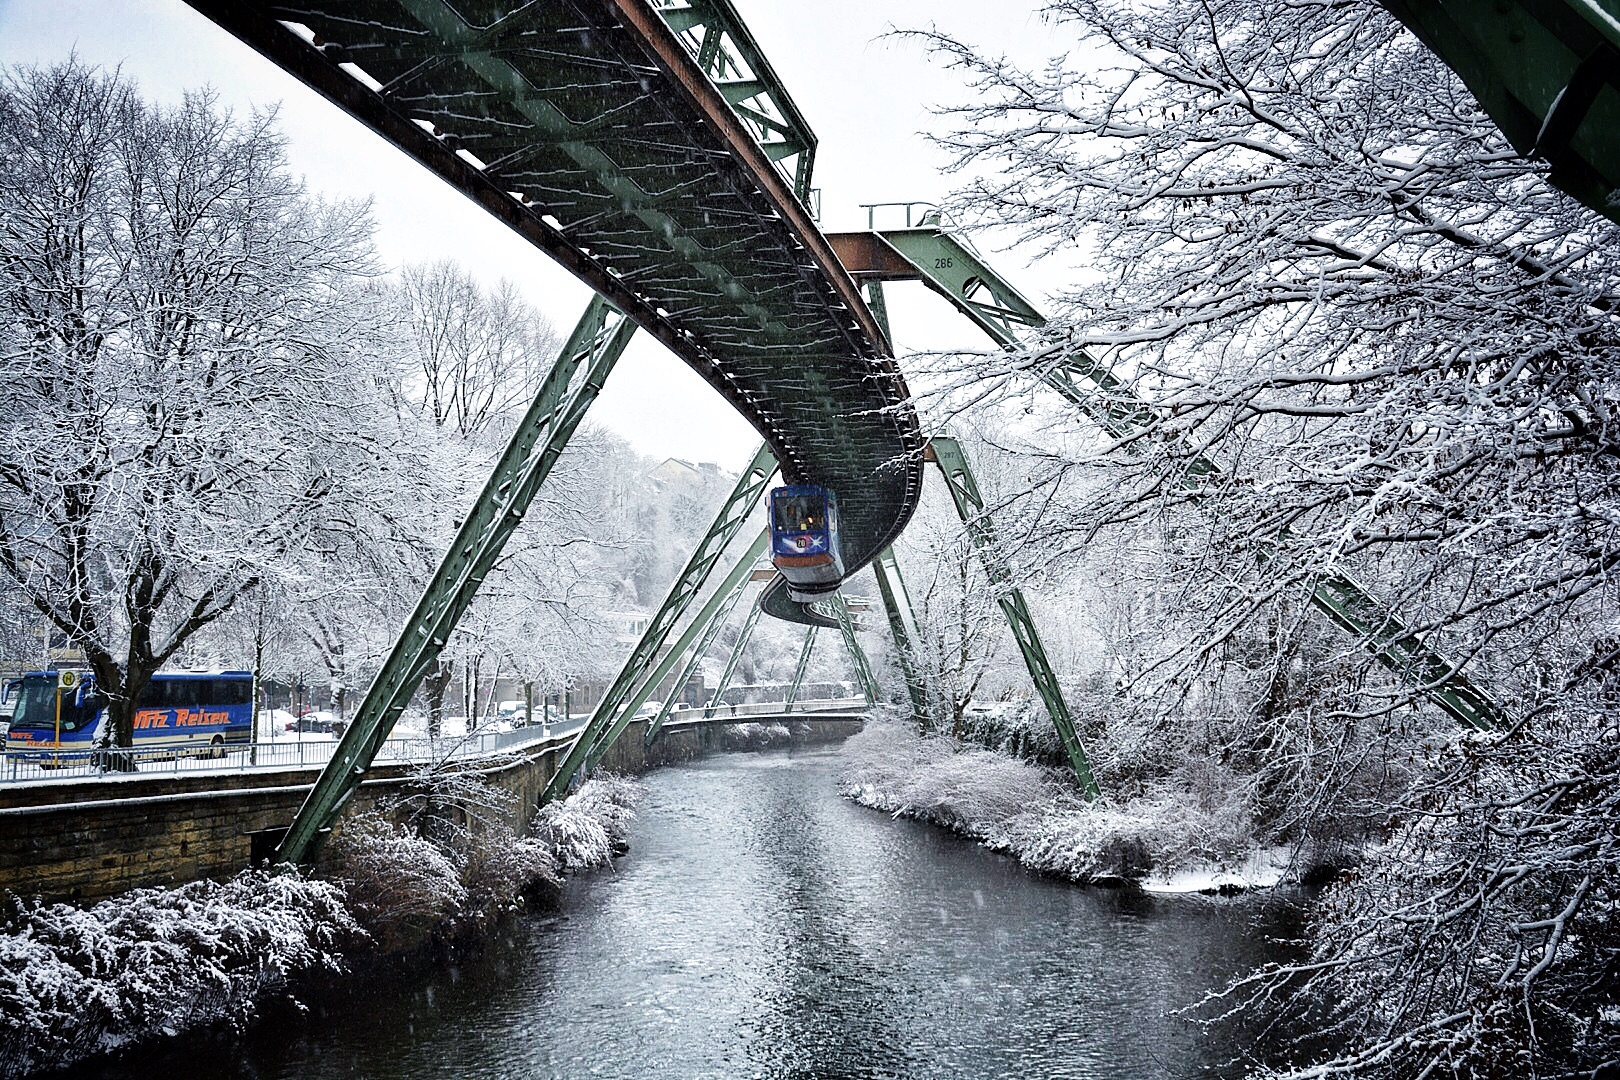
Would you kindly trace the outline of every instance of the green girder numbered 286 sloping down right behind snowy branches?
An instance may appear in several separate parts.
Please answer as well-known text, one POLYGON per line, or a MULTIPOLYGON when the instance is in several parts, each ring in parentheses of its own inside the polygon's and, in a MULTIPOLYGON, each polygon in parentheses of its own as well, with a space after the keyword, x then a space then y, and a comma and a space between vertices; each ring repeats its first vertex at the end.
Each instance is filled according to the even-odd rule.
MULTIPOLYGON (((857 277, 922 280, 1003 348, 1021 348, 1017 327, 1038 329, 1047 322, 1045 316, 1013 285, 962 241, 936 225, 883 233, 842 233, 828 240, 844 259, 844 266, 857 277)), ((1043 364, 1038 376, 1116 439, 1131 439, 1157 421, 1152 406, 1084 350, 1069 350, 1061 363, 1043 364), (1090 382, 1090 389, 1085 382, 1090 382)), ((1184 483, 1197 489, 1218 473, 1220 466, 1215 461, 1196 455, 1186 470, 1184 483)), ((1460 664, 1445 659, 1432 644, 1408 630, 1349 575, 1333 572, 1314 580, 1311 604, 1358 636, 1380 664, 1418 687, 1460 724, 1492 729, 1503 722, 1502 709, 1463 674, 1460 664)))

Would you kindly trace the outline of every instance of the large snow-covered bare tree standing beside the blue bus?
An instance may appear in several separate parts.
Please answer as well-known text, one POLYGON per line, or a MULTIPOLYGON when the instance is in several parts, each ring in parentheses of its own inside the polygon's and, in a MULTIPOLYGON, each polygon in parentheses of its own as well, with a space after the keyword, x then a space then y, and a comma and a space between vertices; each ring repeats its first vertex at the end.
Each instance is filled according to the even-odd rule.
POLYGON ((0 568, 118 745, 152 672, 386 461, 345 298, 369 257, 364 207, 308 199, 271 115, 73 62, 0 83, 0 568))

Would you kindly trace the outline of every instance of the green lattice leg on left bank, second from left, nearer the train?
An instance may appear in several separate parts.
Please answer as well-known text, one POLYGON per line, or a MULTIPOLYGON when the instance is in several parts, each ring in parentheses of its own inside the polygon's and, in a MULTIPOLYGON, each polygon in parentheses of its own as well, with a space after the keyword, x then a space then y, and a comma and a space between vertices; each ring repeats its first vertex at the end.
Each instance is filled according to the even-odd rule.
MULTIPOLYGON (((664 597, 663 606, 659 606, 658 612, 648 622, 642 640, 635 643, 624 667, 619 669, 619 675, 603 693, 603 699, 596 703, 591 719, 585 722, 585 727, 557 764, 557 771, 541 795, 543 801, 557 798, 573 784, 573 777, 585 766, 593 745, 612 725, 620 706, 640 683, 642 675, 658 662, 658 654, 674 631, 676 623, 680 622, 680 617, 697 601, 703 583, 708 581, 726 547, 742 531, 748 515, 753 513, 753 507, 760 502, 760 495, 765 494, 773 473, 776 473, 776 457, 771 455, 768 445, 761 445, 755 452, 753 460, 748 461, 748 466, 742 470, 735 487, 726 497, 719 513, 714 515, 714 521, 698 542, 697 551, 687 559, 687 565, 676 576, 676 583, 669 586, 669 596, 664 597)), ((755 557, 758 555, 755 554, 755 557)), ((635 709, 632 708, 630 712, 633 714, 635 709)))

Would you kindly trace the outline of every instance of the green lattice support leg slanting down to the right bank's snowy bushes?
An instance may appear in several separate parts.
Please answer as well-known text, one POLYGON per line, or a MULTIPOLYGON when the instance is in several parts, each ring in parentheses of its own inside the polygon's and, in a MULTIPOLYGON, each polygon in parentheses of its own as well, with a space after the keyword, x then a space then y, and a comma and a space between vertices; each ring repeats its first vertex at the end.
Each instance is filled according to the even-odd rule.
POLYGON ((996 588, 996 602, 1001 604, 1001 614, 1006 615, 1008 627, 1013 628, 1013 638, 1024 656, 1024 667, 1029 669, 1029 677, 1035 683, 1035 693, 1040 695, 1042 704, 1047 706, 1051 725, 1058 729, 1058 738, 1063 740, 1063 750, 1069 755, 1069 766, 1074 769, 1074 779, 1081 787, 1081 793, 1085 798, 1098 798, 1102 790, 1097 787, 1097 777, 1092 776, 1092 763, 1085 756, 1085 746, 1081 745, 1081 735, 1074 730, 1074 716, 1069 712, 1069 703, 1063 699, 1058 675, 1051 670, 1051 661, 1047 659, 1047 649, 1040 643, 1040 633, 1037 633, 1035 620, 1029 614, 1029 604, 1024 602, 1024 589, 1013 585, 1013 568, 1001 552, 995 525, 991 525, 985 508, 985 497, 978 492, 974 471, 967 466, 967 457, 956 439, 940 436, 935 436, 928 442, 928 450, 940 466, 940 473, 944 474, 944 484, 951 491, 951 502, 956 504, 956 512, 961 515, 962 525, 967 526, 967 534, 972 538, 974 547, 978 549, 978 557, 985 563, 985 575, 996 588))

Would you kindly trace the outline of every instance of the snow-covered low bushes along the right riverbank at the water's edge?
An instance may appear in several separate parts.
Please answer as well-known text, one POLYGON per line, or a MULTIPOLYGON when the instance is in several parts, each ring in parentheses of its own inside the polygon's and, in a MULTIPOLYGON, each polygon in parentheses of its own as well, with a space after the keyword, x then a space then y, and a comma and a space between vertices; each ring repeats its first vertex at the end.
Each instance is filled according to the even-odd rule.
POLYGON ((899 722, 846 743, 839 792, 872 810, 941 826, 1079 884, 1147 892, 1238 892, 1309 879, 1290 848, 1265 847, 1241 803, 1181 795, 1085 803, 1058 769, 899 722))

